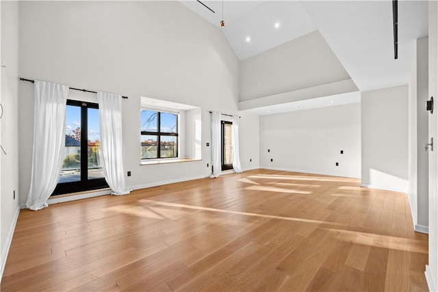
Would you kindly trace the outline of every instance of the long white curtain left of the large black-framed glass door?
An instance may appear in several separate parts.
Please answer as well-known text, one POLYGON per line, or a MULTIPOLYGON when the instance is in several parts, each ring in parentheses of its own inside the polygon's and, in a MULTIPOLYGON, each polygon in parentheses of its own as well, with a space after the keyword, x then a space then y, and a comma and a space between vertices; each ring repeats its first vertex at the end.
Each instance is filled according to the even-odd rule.
POLYGON ((47 207, 62 168, 68 86, 35 80, 34 148, 26 206, 47 207))

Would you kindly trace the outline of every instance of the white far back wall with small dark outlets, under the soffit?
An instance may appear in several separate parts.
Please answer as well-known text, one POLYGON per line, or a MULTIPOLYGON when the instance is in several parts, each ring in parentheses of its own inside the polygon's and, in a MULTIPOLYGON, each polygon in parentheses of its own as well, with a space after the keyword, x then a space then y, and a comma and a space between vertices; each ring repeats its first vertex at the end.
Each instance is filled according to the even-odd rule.
POLYGON ((260 166, 360 178, 360 104, 261 116, 260 166))

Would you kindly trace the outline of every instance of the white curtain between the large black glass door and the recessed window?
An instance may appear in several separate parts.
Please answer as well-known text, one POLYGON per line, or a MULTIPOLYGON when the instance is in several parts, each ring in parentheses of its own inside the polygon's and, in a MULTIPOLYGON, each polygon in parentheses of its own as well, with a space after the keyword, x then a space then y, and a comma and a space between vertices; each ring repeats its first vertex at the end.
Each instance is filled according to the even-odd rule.
POLYGON ((101 163, 112 195, 127 195, 122 151, 122 97, 114 93, 97 93, 101 125, 101 163))

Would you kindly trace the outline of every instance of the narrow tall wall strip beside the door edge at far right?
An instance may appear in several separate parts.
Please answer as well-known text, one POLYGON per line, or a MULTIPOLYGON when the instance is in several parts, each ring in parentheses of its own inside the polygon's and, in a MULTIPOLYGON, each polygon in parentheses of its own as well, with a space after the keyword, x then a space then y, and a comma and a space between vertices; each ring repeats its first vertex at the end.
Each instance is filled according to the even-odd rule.
POLYGON ((409 82, 409 202, 415 230, 428 226, 428 38, 419 38, 415 47, 409 82))

